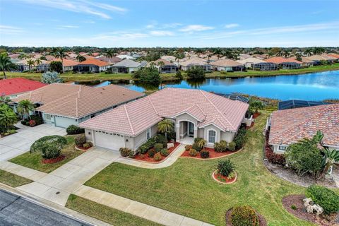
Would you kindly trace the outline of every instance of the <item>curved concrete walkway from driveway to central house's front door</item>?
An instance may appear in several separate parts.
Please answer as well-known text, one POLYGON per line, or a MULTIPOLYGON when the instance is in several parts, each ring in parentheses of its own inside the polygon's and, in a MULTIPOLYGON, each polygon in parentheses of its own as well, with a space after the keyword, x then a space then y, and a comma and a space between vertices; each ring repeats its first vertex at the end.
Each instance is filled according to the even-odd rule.
POLYGON ((181 144, 163 162, 148 163, 148 162, 141 162, 141 161, 137 161, 133 159, 128 159, 126 157, 119 157, 115 162, 120 162, 126 165, 132 165, 134 167, 141 167, 145 169, 160 169, 160 168, 165 168, 165 167, 169 167, 170 165, 172 165, 174 162, 177 161, 178 157, 182 156, 182 153, 184 152, 185 152, 185 145, 181 144))

